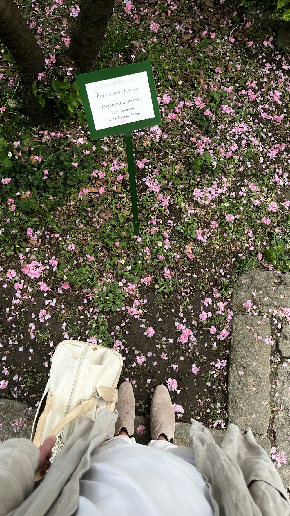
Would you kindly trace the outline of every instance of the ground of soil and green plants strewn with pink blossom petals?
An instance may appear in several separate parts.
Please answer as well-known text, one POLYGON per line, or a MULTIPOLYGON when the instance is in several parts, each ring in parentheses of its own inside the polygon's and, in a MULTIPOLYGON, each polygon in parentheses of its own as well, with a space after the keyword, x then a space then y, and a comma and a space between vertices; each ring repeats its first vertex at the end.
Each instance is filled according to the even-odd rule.
MULTIPOLYGON (((79 6, 18 4, 49 68, 79 6)), ((137 413, 164 383, 176 421, 225 427, 234 282, 290 267, 290 63, 276 40, 275 22, 227 0, 116 3, 96 67, 151 59, 162 115, 133 134, 139 237, 123 136, 91 141, 81 105, 36 128, 0 46, 1 396, 37 406, 55 347, 75 338, 122 353, 137 413)))

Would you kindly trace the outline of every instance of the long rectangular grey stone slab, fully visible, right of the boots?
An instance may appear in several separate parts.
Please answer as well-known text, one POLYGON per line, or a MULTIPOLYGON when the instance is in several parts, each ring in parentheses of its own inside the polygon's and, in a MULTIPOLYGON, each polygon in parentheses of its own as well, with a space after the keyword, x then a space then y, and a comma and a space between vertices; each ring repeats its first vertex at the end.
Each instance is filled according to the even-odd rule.
POLYGON ((270 420, 269 360, 272 350, 264 342, 269 335, 270 323, 262 317, 236 315, 233 318, 228 422, 234 423, 241 430, 250 427, 253 433, 260 434, 267 432, 270 420), (241 376, 239 371, 245 374, 241 376), (264 402, 267 402, 266 406, 264 402))

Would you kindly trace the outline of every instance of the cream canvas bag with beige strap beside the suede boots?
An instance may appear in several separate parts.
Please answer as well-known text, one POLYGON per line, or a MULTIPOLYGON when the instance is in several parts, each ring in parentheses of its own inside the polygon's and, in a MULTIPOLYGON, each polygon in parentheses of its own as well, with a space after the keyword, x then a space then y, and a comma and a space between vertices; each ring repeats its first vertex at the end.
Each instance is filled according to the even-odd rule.
POLYGON ((40 446, 57 436, 51 461, 78 426, 100 409, 113 411, 123 358, 120 353, 82 341, 62 341, 55 349, 50 378, 38 406, 30 440, 40 446))

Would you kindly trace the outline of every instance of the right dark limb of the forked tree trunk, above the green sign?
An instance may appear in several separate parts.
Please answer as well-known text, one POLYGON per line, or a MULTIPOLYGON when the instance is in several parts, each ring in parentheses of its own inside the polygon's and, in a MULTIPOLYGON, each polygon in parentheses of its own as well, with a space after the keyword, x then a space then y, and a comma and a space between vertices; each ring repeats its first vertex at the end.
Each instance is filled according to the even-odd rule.
POLYGON ((67 52, 82 73, 95 68, 114 4, 115 0, 82 0, 67 52))

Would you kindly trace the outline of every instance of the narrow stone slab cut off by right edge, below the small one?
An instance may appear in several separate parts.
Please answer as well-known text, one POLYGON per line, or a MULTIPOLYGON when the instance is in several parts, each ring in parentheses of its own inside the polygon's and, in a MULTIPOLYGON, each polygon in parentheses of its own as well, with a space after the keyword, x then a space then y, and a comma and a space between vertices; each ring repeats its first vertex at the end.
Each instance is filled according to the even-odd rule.
POLYGON ((277 375, 277 392, 279 393, 279 397, 277 397, 280 400, 279 405, 281 408, 283 407, 283 410, 279 411, 275 416, 275 446, 277 448, 276 453, 279 454, 283 451, 287 458, 287 464, 282 464, 278 468, 278 472, 284 486, 288 488, 290 487, 290 364, 287 363, 286 367, 279 364, 277 375))

